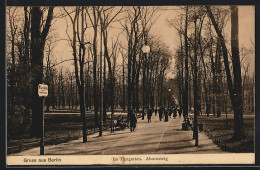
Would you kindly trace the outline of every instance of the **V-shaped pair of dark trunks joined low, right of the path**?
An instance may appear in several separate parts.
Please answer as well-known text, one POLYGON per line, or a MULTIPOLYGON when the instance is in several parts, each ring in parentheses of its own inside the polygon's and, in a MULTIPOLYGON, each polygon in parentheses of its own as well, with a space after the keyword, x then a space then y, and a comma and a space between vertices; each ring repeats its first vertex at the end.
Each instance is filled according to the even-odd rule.
POLYGON ((231 6, 231 50, 232 50, 232 65, 233 65, 233 74, 234 74, 234 86, 232 83, 229 62, 228 62, 228 53, 225 44, 224 37, 221 31, 218 28, 218 24, 215 21, 215 18, 211 12, 209 6, 206 6, 209 18, 215 28, 215 31, 220 39, 222 50, 225 71, 228 82, 228 89, 230 100, 234 109, 234 134, 232 139, 239 140, 244 137, 243 133, 243 99, 242 99, 242 79, 241 79, 241 66, 239 58, 239 43, 238 43, 238 7, 231 6))

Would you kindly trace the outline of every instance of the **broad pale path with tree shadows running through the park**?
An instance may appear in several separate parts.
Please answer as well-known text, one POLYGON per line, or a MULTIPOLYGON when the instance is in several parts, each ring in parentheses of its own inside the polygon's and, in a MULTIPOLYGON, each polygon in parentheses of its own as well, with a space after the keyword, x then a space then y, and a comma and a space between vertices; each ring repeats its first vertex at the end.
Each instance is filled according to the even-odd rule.
MULTIPOLYGON (((105 131, 88 136, 88 142, 81 139, 53 146, 45 146, 45 155, 127 155, 127 154, 192 154, 224 153, 204 132, 199 132, 199 146, 194 146, 192 131, 182 131, 183 118, 169 118, 159 121, 158 114, 152 122, 138 119, 135 132, 127 128, 122 131, 105 131)), ((39 147, 13 155, 39 155, 39 147)))

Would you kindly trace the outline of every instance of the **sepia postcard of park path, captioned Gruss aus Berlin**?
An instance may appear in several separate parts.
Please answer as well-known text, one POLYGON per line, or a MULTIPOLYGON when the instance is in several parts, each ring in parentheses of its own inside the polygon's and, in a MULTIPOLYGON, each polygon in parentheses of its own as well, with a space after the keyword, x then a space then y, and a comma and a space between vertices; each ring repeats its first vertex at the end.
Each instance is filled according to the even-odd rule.
POLYGON ((255 164, 255 6, 6 6, 6 165, 255 164))

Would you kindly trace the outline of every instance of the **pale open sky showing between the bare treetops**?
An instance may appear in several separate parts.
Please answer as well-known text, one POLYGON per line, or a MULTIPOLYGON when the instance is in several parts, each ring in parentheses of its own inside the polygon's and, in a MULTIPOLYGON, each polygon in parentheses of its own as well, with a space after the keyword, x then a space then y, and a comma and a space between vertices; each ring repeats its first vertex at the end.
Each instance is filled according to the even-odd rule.
MULTIPOLYGON (((118 7, 120 8, 120 7, 118 7)), ((173 55, 175 50, 178 48, 179 45, 179 36, 177 31, 170 27, 166 23, 167 19, 174 19, 179 10, 176 6, 167 6, 162 7, 164 9, 168 10, 161 10, 157 16, 158 19, 154 23, 151 29, 151 34, 156 35, 160 37, 160 40, 165 43, 167 46, 170 47, 173 55)), ((54 13, 57 14, 60 12, 62 8, 61 7, 55 7, 54 13)), ((254 48, 254 42, 255 42, 255 8, 254 6, 239 6, 239 46, 245 46, 247 48, 254 48)), ((72 59, 72 49, 69 46, 68 42, 65 40, 67 39, 66 35, 66 21, 65 19, 56 19, 54 20, 52 24, 52 33, 57 36, 57 39, 61 39, 56 43, 55 49, 54 49, 54 58, 57 62, 61 62, 63 60, 72 59)), ((110 37, 108 40, 115 39, 115 37, 119 34, 119 32, 122 31, 121 26, 119 24, 114 24, 114 28, 111 28, 109 31, 110 37)), ((227 24, 225 28, 226 33, 230 33, 230 23, 227 24)), ((92 29, 89 28, 87 30, 87 36, 88 38, 91 38, 92 35, 92 29)), ((124 39, 125 37, 123 34, 120 35, 121 39, 124 39)), ((118 58, 118 60, 121 57, 118 58)), ((252 59, 252 67, 250 67, 251 72, 254 71, 254 58, 252 59)), ((118 61, 121 63, 121 61, 118 61)), ((73 63, 72 62, 64 62, 63 64, 60 64, 58 67, 62 66, 63 68, 68 68, 69 70, 73 70, 73 63)), ((174 67, 174 57, 171 62, 171 69, 174 67)), ((175 75, 172 73, 169 73, 168 77, 173 78, 175 75)))

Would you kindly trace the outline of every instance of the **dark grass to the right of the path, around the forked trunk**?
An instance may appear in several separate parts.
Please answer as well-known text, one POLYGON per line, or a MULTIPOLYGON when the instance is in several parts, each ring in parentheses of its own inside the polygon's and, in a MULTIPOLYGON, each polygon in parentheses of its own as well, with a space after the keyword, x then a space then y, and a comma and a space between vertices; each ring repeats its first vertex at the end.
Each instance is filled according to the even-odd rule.
POLYGON ((212 115, 198 116, 198 123, 203 124, 203 130, 223 151, 233 153, 254 153, 254 115, 244 114, 244 134, 245 137, 240 141, 230 141, 234 133, 234 115, 229 113, 222 114, 217 118, 212 115))

